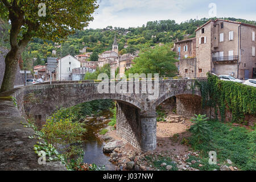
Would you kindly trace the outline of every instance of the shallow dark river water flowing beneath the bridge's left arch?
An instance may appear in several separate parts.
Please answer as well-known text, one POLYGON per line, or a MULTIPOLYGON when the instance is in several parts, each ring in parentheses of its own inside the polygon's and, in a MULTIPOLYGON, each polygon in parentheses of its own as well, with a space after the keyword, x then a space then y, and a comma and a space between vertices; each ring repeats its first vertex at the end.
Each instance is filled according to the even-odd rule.
POLYGON ((84 163, 88 164, 96 164, 97 166, 105 166, 106 170, 115 170, 114 164, 109 162, 110 155, 104 154, 102 152, 102 148, 104 142, 97 137, 97 133, 100 132, 101 129, 108 126, 108 121, 106 119, 110 119, 112 117, 112 113, 109 110, 105 110, 102 112, 101 117, 105 117, 105 119, 97 120, 97 118, 87 119, 86 121, 86 133, 84 134, 85 142, 82 143, 84 150, 84 163))

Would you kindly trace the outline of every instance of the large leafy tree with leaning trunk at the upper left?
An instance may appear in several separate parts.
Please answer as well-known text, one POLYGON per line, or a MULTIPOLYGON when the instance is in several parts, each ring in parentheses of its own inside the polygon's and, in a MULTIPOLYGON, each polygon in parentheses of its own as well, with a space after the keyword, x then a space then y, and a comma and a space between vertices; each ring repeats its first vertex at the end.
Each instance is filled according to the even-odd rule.
POLYGON ((96 0, 43 1, 46 16, 39 0, 1 0, 0 18, 10 22, 10 51, 5 57, 6 69, 1 92, 13 89, 20 54, 32 38, 58 40, 75 30, 83 30, 93 20, 96 0), (43 10, 43 11, 42 11, 43 10))

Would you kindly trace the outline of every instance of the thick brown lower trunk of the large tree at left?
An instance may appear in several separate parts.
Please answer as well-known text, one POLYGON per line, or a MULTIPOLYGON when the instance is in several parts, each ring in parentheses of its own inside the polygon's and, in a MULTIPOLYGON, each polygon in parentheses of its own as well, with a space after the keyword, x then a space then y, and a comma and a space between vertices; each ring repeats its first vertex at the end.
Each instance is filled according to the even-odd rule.
POLYGON ((14 88, 15 75, 18 68, 18 48, 12 48, 5 57, 5 76, 0 92, 14 88))

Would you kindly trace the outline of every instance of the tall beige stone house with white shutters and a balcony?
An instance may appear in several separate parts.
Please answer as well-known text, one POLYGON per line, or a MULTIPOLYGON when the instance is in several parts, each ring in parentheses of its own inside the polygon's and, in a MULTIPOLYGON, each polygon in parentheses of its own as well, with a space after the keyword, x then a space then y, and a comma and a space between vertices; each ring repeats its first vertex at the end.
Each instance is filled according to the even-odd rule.
POLYGON ((256 77, 256 26, 230 20, 209 20, 196 30, 196 77, 207 72, 256 77))

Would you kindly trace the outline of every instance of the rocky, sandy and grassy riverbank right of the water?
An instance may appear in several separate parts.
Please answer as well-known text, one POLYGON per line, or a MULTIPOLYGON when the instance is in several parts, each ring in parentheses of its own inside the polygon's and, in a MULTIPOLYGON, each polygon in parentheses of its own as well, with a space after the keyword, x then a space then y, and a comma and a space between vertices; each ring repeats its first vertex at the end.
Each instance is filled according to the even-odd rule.
POLYGON ((108 132, 101 135, 112 146, 110 162, 115 164, 115 170, 237 171, 256 168, 255 126, 209 121, 212 139, 197 143, 189 131, 190 118, 176 115, 175 109, 168 107, 163 105, 164 116, 157 122, 155 151, 137 150, 118 137, 113 127, 108 127, 108 132), (216 164, 209 163, 210 151, 216 152, 216 164))

